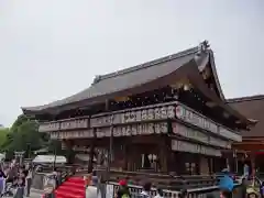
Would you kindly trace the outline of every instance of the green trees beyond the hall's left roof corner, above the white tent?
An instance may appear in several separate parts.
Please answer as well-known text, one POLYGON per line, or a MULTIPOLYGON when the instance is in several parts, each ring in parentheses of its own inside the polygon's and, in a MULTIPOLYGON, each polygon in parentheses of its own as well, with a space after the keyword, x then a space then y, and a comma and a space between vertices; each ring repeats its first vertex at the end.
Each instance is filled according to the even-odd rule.
POLYGON ((21 114, 10 129, 0 131, 0 150, 12 158, 15 151, 25 151, 25 157, 32 156, 33 151, 47 147, 48 153, 64 155, 59 141, 50 140, 50 135, 38 132, 38 122, 21 114))

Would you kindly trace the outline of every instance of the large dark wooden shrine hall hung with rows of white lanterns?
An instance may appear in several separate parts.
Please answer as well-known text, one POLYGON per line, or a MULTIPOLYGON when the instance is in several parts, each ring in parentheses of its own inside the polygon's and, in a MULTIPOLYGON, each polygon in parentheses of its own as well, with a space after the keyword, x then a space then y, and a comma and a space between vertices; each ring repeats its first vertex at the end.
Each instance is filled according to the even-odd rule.
POLYGON ((208 42, 97 76, 68 98, 22 108, 89 170, 208 175, 254 121, 226 102, 208 42))

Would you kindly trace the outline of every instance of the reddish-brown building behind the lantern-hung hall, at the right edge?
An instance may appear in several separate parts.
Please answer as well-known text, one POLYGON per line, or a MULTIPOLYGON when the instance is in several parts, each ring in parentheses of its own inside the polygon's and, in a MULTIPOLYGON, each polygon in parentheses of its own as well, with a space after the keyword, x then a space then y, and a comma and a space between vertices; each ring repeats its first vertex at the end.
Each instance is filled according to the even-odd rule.
POLYGON ((229 99, 228 103, 245 117, 257 121, 250 132, 242 132, 242 142, 232 145, 239 153, 239 169, 248 162, 252 169, 264 173, 264 96, 233 98, 229 99))

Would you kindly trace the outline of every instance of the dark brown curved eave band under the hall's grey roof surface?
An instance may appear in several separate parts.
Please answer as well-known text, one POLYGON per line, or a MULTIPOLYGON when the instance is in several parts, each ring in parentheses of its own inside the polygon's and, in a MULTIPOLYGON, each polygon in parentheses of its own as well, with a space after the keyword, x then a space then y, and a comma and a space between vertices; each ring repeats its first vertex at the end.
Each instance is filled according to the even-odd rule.
POLYGON ((147 90, 151 90, 151 88, 156 87, 156 88, 162 88, 166 85, 173 84, 175 82, 175 80, 177 79, 182 79, 183 77, 187 77, 188 79, 190 79, 190 82, 193 82, 194 85, 196 85, 196 87, 204 92, 204 95, 211 99, 212 101, 215 101, 216 103, 218 103, 218 106, 220 106, 221 108, 226 109, 230 114, 237 117, 239 120, 241 120, 242 123, 246 124, 246 125, 253 125, 255 124, 255 121, 249 120, 246 119, 244 116, 242 116, 240 112, 238 112, 237 110, 232 109, 228 103, 226 103, 226 101, 222 101, 215 91, 210 90, 205 81, 202 80, 201 75, 199 74, 198 67, 197 67, 197 63, 195 59, 190 61, 189 63, 185 64, 184 66, 182 66, 180 68, 178 68, 177 70, 175 70, 174 73, 170 73, 169 75, 163 76, 161 78, 157 78, 155 80, 152 80, 150 82, 146 82, 144 85, 138 86, 138 87, 133 87, 127 90, 122 90, 122 91, 118 91, 118 92, 112 92, 106 96, 100 96, 100 97, 96 97, 96 98, 90 98, 80 102, 75 102, 75 103, 70 103, 64 107, 56 107, 54 108, 50 108, 50 109, 45 109, 45 110, 41 110, 41 111, 26 111, 24 109, 24 112, 26 113, 44 113, 44 112, 51 112, 52 110, 54 111, 63 111, 65 110, 65 108, 67 109, 74 109, 74 108, 80 108, 80 107, 86 107, 86 106, 91 106, 95 105, 96 102, 103 102, 106 99, 111 99, 116 96, 124 96, 124 95, 134 95, 134 94, 140 94, 140 92, 144 92, 147 90))

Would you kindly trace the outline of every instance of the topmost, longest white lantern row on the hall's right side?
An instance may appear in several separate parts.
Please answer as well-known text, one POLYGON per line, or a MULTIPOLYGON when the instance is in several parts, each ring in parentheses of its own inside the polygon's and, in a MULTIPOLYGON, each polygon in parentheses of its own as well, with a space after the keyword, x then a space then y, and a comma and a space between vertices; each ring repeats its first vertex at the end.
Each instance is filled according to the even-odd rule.
POLYGON ((184 106, 177 106, 175 109, 175 114, 176 114, 176 118, 187 123, 190 123, 193 125, 196 125, 200 129, 207 130, 209 132, 212 132, 215 134, 221 135, 226 139, 229 139, 235 142, 242 141, 241 135, 215 123, 213 121, 207 119, 206 117, 199 114, 198 112, 190 110, 189 108, 185 108, 184 106))

